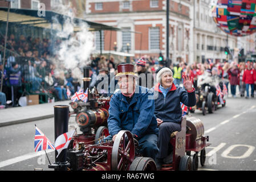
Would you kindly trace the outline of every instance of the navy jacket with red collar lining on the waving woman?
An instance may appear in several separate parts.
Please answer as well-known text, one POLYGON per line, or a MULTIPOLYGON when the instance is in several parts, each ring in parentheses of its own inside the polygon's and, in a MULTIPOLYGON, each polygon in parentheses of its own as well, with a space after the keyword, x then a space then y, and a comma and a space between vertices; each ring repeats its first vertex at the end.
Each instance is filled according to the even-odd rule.
POLYGON ((172 84, 172 88, 164 97, 159 86, 160 84, 157 84, 154 89, 156 118, 162 119, 164 122, 180 123, 182 119, 180 102, 188 107, 196 105, 194 89, 193 92, 187 92, 180 86, 172 84))

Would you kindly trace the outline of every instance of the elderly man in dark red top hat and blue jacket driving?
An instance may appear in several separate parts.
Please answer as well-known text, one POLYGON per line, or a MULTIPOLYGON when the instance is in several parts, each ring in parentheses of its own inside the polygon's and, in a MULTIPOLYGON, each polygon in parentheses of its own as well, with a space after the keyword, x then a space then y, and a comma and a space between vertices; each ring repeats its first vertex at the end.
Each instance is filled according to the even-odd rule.
POLYGON ((154 114, 153 92, 136 85, 136 73, 132 64, 117 66, 120 90, 113 94, 108 117, 109 136, 104 140, 115 140, 120 130, 131 131, 133 138, 139 142, 143 156, 155 160, 157 148, 157 121, 154 114))

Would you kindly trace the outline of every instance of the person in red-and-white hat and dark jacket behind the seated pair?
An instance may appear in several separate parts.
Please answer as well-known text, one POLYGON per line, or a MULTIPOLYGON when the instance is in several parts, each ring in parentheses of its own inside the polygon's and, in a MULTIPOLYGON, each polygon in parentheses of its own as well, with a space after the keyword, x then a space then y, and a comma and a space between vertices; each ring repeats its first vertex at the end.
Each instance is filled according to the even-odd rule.
POLYGON ((136 63, 136 71, 139 75, 139 86, 144 86, 151 89, 154 86, 153 74, 147 71, 147 60, 142 57, 136 63))

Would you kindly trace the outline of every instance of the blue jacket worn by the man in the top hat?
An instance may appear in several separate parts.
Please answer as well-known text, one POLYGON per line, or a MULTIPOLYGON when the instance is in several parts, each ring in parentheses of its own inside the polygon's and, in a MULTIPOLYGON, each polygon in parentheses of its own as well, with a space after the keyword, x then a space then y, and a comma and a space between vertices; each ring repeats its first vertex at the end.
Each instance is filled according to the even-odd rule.
POLYGON ((129 130, 137 135, 137 138, 146 134, 159 134, 151 90, 136 86, 130 104, 119 90, 113 94, 109 104, 108 130, 110 135, 113 136, 120 130, 129 130))

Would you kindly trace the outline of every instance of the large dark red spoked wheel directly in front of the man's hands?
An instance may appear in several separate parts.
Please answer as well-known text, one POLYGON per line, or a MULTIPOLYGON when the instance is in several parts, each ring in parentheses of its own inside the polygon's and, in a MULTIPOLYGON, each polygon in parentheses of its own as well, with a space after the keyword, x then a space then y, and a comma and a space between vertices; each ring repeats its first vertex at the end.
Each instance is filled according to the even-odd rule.
POLYGON ((134 158, 135 146, 131 132, 119 131, 112 148, 111 169, 113 171, 127 171, 134 158))

